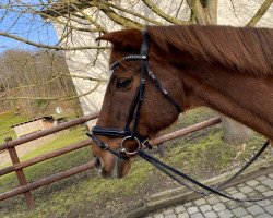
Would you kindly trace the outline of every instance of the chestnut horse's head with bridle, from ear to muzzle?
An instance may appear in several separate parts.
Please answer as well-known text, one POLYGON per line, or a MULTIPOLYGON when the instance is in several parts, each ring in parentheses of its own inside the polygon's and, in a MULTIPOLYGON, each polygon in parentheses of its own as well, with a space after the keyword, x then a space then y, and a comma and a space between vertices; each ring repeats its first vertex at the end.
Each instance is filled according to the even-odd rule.
POLYGON ((149 41, 146 57, 140 56, 143 47, 140 31, 112 32, 97 40, 112 44, 109 61, 111 75, 93 134, 96 135, 95 141, 98 144, 103 143, 111 150, 120 150, 122 144, 127 154, 126 158, 120 158, 97 145, 93 145, 93 154, 103 177, 122 178, 130 169, 129 158, 134 156, 139 146, 177 120, 180 102, 183 100, 182 84, 176 68, 161 58, 164 56, 152 41, 149 41), (149 64, 149 69, 144 69, 145 75, 142 72, 145 68, 143 64, 149 64), (154 72, 162 89, 156 87, 153 76, 149 76, 151 72, 147 71, 154 72), (141 85, 143 80, 145 87, 141 85), (164 95, 175 101, 174 106, 164 95))

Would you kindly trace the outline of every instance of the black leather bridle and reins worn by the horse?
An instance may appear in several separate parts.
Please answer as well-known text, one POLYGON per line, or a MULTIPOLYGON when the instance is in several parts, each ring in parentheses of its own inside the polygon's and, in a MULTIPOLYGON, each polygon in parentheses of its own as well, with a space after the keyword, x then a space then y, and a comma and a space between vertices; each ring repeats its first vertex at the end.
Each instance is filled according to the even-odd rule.
MULTIPOLYGON (((209 193, 214 193, 217 194, 222 197, 236 201, 236 202, 258 202, 258 201, 263 201, 263 199, 269 199, 273 198, 272 196, 266 196, 266 197, 260 197, 260 198, 245 198, 245 199, 239 199, 235 198, 228 194, 225 194, 224 192, 221 192, 219 190, 224 187, 227 183, 230 183, 234 179, 236 179, 238 175, 241 174, 261 154, 262 152, 269 146, 270 142, 266 141, 264 145, 260 148, 260 150, 250 159, 249 162, 247 162, 246 166, 244 166, 235 175, 229 178, 227 181, 224 183, 219 184, 217 187, 212 187, 207 186, 191 177, 187 175, 186 173, 162 162, 157 158, 153 157, 152 155, 145 153, 142 148, 143 145, 149 147, 150 149, 152 146, 149 144, 147 137, 145 135, 141 135, 136 132, 138 129, 138 123, 140 119, 140 111, 141 111, 141 106, 144 99, 144 93, 145 93, 145 85, 146 85, 146 75, 151 77, 151 80, 154 82, 156 87, 159 89, 159 92, 165 96, 165 98, 176 108, 177 112, 180 113, 182 109, 180 106, 175 101, 175 99, 168 94, 168 92, 164 88, 163 84, 157 80, 157 77, 154 75, 154 73, 150 70, 149 68, 149 48, 151 44, 150 35, 147 31, 142 32, 143 35, 143 41, 142 41, 142 47, 140 55, 132 55, 132 56, 127 56, 122 58, 121 61, 141 61, 141 81, 140 84, 136 88, 134 99, 132 101, 132 107, 129 111, 128 120, 126 122, 124 129, 112 129, 112 128, 102 128, 102 126, 94 126, 92 129, 92 133, 86 133, 93 141, 96 146, 99 148, 109 152, 117 158, 121 158, 124 160, 129 160, 128 155, 134 155, 138 154, 141 158, 144 160, 149 161, 152 164, 154 167, 156 167, 158 170, 170 177, 173 180, 178 182, 179 184, 182 184, 187 186, 188 189, 198 192, 203 195, 209 195, 209 193), (132 123, 132 130, 130 129, 130 125, 132 123), (104 135, 104 136, 111 136, 111 137, 123 137, 120 147, 118 149, 112 149, 110 148, 107 144, 102 142, 97 135, 104 135), (135 150, 130 152, 126 148, 124 143, 126 141, 133 140, 136 142, 138 147, 135 150), (183 180, 187 180, 189 183, 192 183, 195 186, 201 187, 194 189, 190 186, 188 183, 183 182, 180 178, 183 180), (207 191, 209 193, 204 192, 203 190, 207 191)), ((110 71, 114 73, 115 69, 121 65, 120 61, 116 61, 111 64, 110 71)))

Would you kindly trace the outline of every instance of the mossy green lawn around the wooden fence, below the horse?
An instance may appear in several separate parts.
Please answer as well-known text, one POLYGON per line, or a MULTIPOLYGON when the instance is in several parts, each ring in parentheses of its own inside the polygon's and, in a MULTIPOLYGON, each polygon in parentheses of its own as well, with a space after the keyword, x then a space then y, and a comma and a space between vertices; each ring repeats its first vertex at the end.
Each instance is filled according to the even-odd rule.
MULTIPOLYGON (((191 125, 217 114, 207 109, 193 110, 181 116, 167 131, 191 125)), ((86 138, 83 128, 63 132, 39 149, 23 156, 21 160, 48 153, 72 142, 86 138)), ((194 178, 207 179, 233 169, 258 149, 263 138, 256 135, 248 146, 232 146, 223 142, 221 124, 166 143, 164 161, 189 172, 194 178), (240 152, 240 155, 237 155, 240 152)), ((62 155, 25 169, 28 181, 69 169, 92 159, 90 147, 62 155)), ((0 202, 3 217, 109 217, 124 211, 156 192, 177 184, 139 158, 132 160, 130 173, 121 180, 104 180, 94 171, 85 171, 33 192, 36 207, 28 211, 20 195, 0 202)), ((1 168, 1 167, 0 167, 1 168)), ((17 186, 14 173, 0 178, 0 192, 17 186)))

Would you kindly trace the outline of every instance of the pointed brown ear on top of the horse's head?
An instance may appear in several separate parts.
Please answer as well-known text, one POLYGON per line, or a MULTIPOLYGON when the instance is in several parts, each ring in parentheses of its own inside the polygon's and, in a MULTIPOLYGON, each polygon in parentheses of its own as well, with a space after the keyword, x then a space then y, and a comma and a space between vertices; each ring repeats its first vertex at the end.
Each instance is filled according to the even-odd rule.
POLYGON ((140 48, 142 44, 141 32, 136 28, 110 32, 96 38, 97 40, 110 41, 115 47, 140 48))

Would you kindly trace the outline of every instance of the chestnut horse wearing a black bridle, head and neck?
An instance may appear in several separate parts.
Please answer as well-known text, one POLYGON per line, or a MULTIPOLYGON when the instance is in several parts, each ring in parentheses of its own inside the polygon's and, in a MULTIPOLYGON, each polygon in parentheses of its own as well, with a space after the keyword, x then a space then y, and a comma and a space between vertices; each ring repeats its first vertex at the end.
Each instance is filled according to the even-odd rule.
MULTIPOLYGON (((149 68, 182 110, 205 106, 273 140, 273 29, 230 26, 147 26, 149 68)), ((112 44, 110 64, 140 55, 138 29, 103 35, 112 44)), ((120 61, 110 76, 97 126, 123 129, 141 80, 141 61, 120 61)), ((136 132, 149 138, 179 116, 154 82, 146 77, 136 132)), ((131 124, 132 125, 132 124, 131 124)), ((133 128, 131 126, 130 128, 133 128)), ((118 149, 122 137, 98 135, 118 149)), ((131 143, 130 146, 135 146, 131 143)), ((122 178, 129 160, 93 145, 104 177, 122 178)))

